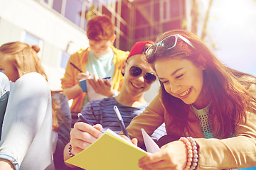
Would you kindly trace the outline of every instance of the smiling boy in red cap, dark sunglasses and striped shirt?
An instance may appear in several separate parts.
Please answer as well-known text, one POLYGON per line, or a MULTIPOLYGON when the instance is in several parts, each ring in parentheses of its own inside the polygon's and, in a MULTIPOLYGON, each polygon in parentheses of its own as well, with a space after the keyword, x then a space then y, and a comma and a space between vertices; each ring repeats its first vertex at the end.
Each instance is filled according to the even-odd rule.
MULTIPOLYGON (((90 101, 83 108, 82 117, 87 122, 80 122, 83 118, 78 118, 78 122, 75 123, 74 129, 70 133, 70 143, 64 150, 65 160, 95 142, 107 128, 117 133, 121 132, 113 106, 119 108, 124 124, 127 126, 132 118, 142 113, 149 105, 144 99, 144 94, 156 80, 156 73, 146 62, 144 52, 152 44, 154 44, 152 41, 140 41, 132 47, 122 66, 124 84, 118 96, 104 98, 100 101, 90 101)), ((165 134, 163 124, 151 137, 157 140, 165 134)))

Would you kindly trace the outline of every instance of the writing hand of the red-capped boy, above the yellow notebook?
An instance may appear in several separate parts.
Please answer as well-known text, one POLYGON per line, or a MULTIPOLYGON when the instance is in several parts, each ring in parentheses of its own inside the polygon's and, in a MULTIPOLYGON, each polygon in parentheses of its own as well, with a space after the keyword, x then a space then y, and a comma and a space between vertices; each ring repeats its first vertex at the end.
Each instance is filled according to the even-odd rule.
POLYGON ((74 129, 70 132, 70 144, 72 153, 78 154, 89 147, 102 135, 102 125, 89 125, 87 123, 75 123, 74 129))

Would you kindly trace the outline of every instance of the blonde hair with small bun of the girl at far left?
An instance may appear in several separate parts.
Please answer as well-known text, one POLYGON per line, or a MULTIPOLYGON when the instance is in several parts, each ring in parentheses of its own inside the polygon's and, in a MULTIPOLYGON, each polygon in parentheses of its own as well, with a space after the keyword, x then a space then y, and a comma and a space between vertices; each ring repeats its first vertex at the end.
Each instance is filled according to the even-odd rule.
MULTIPOLYGON (((23 76, 30 72, 38 72, 45 77, 46 81, 48 78, 46 72, 43 69, 41 61, 37 55, 40 51, 38 45, 28 45, 25 42, 9 42, 1 45, 0 52, 6 54, 8 62, 12 64, 14 69, 18 72, 18 77, 23 76)), ((53 96, 53 94, 52 94, 53 96)), ((56 100, 52 100, 53 110, 53 130, 58 130, 58 119, 62 119, 60 116, 60 106, 56 100)))

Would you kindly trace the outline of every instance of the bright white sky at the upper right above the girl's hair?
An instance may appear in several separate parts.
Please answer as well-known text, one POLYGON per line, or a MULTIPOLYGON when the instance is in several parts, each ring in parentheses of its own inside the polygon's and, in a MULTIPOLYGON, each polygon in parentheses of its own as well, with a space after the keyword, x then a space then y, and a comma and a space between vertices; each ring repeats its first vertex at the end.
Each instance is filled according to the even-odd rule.
POLYGON ((213 0, 208 23, 216 57, 256 76, 256 1, 213 0))

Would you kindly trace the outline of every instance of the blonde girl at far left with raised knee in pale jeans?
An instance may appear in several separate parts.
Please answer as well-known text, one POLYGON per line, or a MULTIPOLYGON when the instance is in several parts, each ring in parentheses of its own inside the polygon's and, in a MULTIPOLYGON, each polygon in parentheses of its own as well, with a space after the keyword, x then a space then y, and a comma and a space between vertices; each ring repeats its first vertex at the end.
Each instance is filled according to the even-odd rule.
POLYGON ((24 42, 0 47, 0 70, 14 82, 1 132, 1 167, 5 162, 9 169, 65 169, 62 151, 71 126, 68 98, 51 93, 39 50, 24 42))

